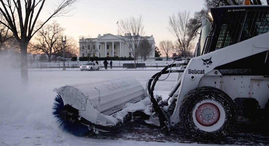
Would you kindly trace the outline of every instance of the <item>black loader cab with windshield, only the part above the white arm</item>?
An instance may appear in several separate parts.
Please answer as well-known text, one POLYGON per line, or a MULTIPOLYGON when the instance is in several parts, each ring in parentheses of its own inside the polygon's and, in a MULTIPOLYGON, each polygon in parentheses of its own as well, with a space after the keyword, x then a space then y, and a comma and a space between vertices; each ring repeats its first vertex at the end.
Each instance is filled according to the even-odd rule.
POLYGON ((269 32, 269 7, 222 6, 202 18, 195 57, 269 32))

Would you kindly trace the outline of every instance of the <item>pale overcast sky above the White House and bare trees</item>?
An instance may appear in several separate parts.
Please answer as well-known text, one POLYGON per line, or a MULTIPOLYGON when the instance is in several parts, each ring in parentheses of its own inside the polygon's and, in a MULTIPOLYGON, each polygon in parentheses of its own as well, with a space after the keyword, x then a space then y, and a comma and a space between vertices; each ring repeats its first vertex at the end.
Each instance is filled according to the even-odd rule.
POLYGON ((176 40, 167 30, 169 16, 187 10, 193 17, 194 12, 204 7, 203 3, 203 0, 80 0, 70 13, 73 16, 53 20, 66 29, 66 36, 79 41, 80 35, 91 38, 97 38, 98 34, 117 35, 118 20, 142 15, 145 35, 153 35, 155 46, 159 47, 162 40, 176 40))

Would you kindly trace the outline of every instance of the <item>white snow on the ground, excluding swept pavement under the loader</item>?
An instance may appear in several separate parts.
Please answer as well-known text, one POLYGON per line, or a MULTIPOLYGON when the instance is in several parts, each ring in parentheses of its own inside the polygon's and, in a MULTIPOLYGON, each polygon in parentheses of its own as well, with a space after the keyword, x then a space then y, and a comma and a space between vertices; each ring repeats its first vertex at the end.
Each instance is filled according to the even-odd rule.
MULTIPOLYGON (((60 130, 52 117, 51 107, 56 96, 52 90, 55 87, 122 76, 132 76, 145 86, 146 80, 158 72, 155 68, 114 68, 91 72, 81 72, 79 69, 29 69, 28 88, 21 86, 20 71, 1 65, 0 68, 0 145, 205 145, 76 137, 60 130)), ((176 74, 170 76, 171 78, 156 84, 155 93, 169 93, 175 83, 176 74)))

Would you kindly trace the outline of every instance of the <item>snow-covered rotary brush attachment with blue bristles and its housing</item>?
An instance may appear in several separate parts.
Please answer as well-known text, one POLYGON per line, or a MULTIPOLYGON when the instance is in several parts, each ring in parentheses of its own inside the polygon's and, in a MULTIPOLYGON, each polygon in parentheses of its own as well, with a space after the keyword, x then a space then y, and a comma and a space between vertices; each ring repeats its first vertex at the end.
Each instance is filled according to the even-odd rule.
POLYGON ((142 111, 150 101, 146 90, 131 77, 55 88, 53 115, 60 126, 76 136, 116 130, 129 113, 142 111), (143 100, 143 101, 141 101, 143 100))

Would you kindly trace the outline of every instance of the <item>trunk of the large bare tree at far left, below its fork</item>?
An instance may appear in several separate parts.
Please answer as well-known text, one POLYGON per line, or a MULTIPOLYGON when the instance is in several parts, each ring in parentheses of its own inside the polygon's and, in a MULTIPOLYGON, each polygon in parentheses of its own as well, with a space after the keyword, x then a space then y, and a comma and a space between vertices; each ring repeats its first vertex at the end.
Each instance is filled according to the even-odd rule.
POLYGON ((21 48, 21 83, 28 86, 27 44, 20 43, 21 48))

